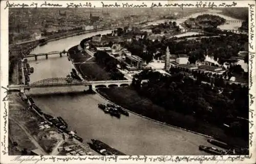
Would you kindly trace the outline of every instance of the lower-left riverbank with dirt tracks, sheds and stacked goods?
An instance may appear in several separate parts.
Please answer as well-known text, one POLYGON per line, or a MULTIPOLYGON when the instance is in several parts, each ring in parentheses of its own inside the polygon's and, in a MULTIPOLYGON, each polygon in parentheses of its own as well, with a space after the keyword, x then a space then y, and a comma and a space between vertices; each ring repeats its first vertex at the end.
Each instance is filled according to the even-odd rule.
POLYGON ((77 137, 76 134, 71 138, 69 130, 62 130, 53 126, 44 114, 35 112, 24 99, 23 101, 20 100, 22 99, 20 95, 17 93, 10 94, 9 143, 12 149, 9 150, 9 154, 25 155, 22 151, 26 149, 27 155, 32 155, 37 149, 36 151, 39 151, 37 155, 67 155, 80 148, 79 151, 76 151, 76 155, 81 155, 82 152, 83 155, 88 152, 98 155, 88 145, 83 144, 80 141, 81 138, 77 137), (70 150, 63 147, 70 147, 70 150), (63 150, 60 151, 60 148, 63 150))

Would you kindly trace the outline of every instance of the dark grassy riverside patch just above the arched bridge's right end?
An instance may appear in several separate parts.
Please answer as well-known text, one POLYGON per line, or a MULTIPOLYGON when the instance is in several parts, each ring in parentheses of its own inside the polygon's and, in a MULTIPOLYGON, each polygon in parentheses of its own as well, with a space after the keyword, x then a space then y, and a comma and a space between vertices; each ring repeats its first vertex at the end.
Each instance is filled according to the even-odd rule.
POLYGON ((110 73, 106 72, 96 63, 81 64, 78 68, 80 68, 82 75, 90 80, 111 80, 110 73))

